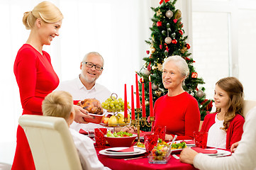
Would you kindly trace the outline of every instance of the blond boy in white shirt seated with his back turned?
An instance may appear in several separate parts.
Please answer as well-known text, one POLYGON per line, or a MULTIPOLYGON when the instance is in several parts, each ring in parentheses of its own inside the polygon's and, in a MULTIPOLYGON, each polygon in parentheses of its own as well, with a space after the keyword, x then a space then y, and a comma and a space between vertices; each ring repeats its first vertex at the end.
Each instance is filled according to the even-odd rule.
MULTIPOLYGON (((71 94, 66 91, 53 91, 45 97, 42 105, 43 115, 64 118, 70 126, 74 121, 74 105, 71 94)), ((89 137, 79 134, 79 132, 69 128, 77 147, 80 162, 83 169, 108 169, 104 167, 96 155, 94 142, 89 137)))

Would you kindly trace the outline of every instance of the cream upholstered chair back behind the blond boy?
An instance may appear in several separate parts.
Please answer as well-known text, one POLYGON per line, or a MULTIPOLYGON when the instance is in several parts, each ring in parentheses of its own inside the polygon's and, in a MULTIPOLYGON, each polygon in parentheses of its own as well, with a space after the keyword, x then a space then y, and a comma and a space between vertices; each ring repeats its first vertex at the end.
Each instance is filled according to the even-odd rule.
POLYGON ((43 115, 22 115, 18 123, 28 138, 35 169, 82 170, 65 119, 43 115))

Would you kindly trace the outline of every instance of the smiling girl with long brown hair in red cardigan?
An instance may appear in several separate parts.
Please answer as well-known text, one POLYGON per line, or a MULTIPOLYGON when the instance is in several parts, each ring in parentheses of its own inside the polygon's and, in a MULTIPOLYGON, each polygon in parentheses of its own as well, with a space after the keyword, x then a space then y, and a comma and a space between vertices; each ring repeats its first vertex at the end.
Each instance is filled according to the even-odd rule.
POLYGON ((243 85, 235 77, 220 79, 214 101, 216 113, 206 115, 201 131, 208 132, 208 147, 230 149, 243 134, 243 85))

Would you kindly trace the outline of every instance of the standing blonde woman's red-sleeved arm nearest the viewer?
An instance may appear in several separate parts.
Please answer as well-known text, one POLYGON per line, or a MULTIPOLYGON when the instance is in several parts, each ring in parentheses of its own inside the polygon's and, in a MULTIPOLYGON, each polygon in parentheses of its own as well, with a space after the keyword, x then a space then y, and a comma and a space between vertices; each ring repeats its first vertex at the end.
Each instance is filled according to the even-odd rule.
POLYGON ((16 64, 16 81, 21 96, 21 105, 24 110, 42 112, 43 98, 35 97, 36 59, 33 52, 23 50, 22 59, 16 64))

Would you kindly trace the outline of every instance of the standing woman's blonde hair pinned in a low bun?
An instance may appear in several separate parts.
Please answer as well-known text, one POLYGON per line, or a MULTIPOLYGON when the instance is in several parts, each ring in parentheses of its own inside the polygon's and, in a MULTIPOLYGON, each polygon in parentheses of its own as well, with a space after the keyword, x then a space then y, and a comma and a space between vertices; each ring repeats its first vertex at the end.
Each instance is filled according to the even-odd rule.
POLYGON ((49 1, 43 1, 35 6, 32 11, 24 13, 23 24, 26 29, 33 28, 37 18, 41 18, 45 23, 56 23, 63 19, 63 15, 57 6, 49 1))

